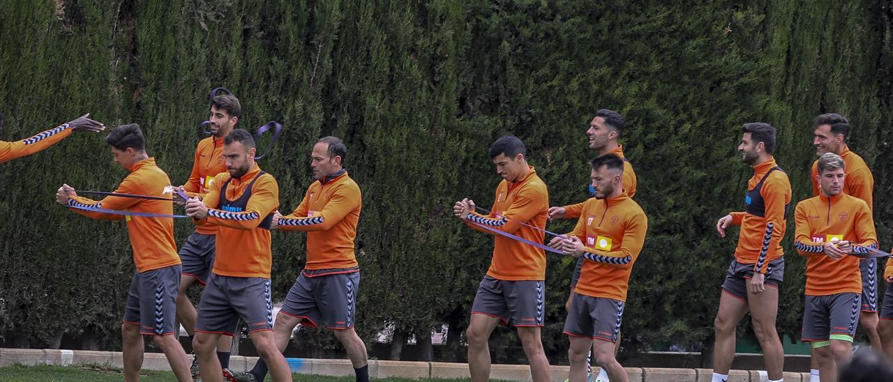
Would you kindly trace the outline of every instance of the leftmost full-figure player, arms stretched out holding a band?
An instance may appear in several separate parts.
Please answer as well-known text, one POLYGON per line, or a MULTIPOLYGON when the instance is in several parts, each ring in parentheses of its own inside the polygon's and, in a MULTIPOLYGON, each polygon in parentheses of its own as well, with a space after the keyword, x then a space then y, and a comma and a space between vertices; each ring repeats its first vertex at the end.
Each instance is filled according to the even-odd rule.
MULTIPOLYGON (((146 139, 137 124, 112 130, 105 142, 112 146, 114 162, 129 171, 115 194, 147 195, 157 199, 171 197, 171 179, 158 168, 155 159, 146 154, 146 139)), ((171 364, 180 381, 192 380, 186 353, 174 334, 174 315, 179 286, 180 262, 173 240, 173 202, 166 200, 105 197, 90 200, 75 194, 74 188, 63 185, 56 193, 56 202, 72 207, 155 213, 167 217, 126 216, 105 212, 71 209, 93 219, 126 220, 133 262, 137 271, 130 283, 124 308, 123 340, 124 379, 139 379, 143 365, 143 336, 151 336, 171 364)))

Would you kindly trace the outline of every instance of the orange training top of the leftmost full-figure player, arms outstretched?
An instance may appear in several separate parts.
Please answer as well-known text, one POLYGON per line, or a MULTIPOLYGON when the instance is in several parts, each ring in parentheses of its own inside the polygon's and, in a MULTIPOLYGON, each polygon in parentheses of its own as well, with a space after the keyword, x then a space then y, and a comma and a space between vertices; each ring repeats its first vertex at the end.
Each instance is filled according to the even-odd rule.
MULTIPOLYGON (((154 158, 136 162, 128 170, 130 173, 114 190, 116 194, 172 196, 168 188, 171 187, 171 179, 162 169, 158 168, 154 158)), ((68 203, 69 205, 106 210, 173 214, 173 202, 164 200, 108 196, 97 202, 83 196, 72 196, 68 203)), ((130 247, 133 248, 133 262, 139 272, 179 264, 177 244, 173 240, 172 218, 125 217, 74 208, 71 211, 93 219, 127 220, 127 234, 130 237, 130 247)))

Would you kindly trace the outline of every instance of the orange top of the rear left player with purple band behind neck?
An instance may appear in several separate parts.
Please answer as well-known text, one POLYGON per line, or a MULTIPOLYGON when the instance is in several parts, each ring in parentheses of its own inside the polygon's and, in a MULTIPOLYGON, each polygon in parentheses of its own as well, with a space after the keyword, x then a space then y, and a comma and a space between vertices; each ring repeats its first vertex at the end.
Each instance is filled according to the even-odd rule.
MULTIPOLYGON (((196 158, 192 162, 192 172, 183 184, 187 195, 204 198, 217 175, 226 172, 226 161, 223 158, 223 138, 206 137, 198 141, 196 158)), ((196 226, 196 232, 214 235, 217 227, 213 225, 196 226)))

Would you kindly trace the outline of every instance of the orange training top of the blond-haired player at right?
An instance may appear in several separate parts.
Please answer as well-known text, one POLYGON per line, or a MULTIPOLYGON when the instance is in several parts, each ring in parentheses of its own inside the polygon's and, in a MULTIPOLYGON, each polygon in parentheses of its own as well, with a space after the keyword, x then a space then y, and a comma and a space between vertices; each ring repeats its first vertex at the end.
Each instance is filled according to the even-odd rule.
POLYGON ((862 293, 859 258, 847 255, 840 260, 831 259, 825 254, 824 245, 837 238, 877 248, 878 237, 868 204, 843 193, 814 196, 797 203, 794 219, 794 245, 797 253, 806 256, 806 295, 862 293))

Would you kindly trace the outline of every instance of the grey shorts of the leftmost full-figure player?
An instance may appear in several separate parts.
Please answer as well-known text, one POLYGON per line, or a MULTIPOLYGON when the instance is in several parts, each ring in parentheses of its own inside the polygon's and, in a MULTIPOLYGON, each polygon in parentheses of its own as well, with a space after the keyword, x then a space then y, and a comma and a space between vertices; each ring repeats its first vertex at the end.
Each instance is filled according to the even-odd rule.
POLYGON ((177 314, 180 266, 136 272, 130 282, 124 322, 139 325, 139 333, 172 335, 177 314))

